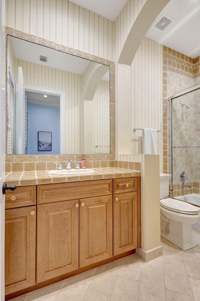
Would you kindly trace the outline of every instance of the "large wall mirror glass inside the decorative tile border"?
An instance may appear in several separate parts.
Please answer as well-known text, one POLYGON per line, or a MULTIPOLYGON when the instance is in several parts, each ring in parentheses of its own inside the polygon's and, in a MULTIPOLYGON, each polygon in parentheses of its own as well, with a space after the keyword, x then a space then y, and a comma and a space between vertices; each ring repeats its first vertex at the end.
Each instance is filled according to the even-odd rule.
POLYGON ((108 64, 7 35, 7 154, 110 154, 110 75, 108 64))

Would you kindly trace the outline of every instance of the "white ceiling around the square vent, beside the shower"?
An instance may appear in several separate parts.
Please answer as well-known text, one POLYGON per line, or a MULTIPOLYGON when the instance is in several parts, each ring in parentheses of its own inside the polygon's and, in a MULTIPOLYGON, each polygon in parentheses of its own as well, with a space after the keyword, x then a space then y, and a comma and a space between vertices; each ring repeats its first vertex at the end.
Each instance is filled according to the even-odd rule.
POLYGON ((199 56, 200 0, 171 0, 156 21, 163 14, 174 21, 163 32, 151 27, 146 37, 192 58, 199 56))

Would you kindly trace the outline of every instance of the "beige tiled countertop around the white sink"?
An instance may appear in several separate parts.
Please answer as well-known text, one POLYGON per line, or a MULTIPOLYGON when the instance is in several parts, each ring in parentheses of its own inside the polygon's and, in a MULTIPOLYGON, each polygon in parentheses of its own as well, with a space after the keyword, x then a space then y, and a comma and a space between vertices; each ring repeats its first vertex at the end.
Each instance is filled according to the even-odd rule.
POLYGON ((93 168, 92 174, 77 175, 50 175, 47 171, 30 171, 30 172, 8 172, 6 173, 7 186, 15 184, 16 186, 79 182, 101 179, 113 179, 123 177, 141 176, 140 171, 123 169, 123 168, 93 168))

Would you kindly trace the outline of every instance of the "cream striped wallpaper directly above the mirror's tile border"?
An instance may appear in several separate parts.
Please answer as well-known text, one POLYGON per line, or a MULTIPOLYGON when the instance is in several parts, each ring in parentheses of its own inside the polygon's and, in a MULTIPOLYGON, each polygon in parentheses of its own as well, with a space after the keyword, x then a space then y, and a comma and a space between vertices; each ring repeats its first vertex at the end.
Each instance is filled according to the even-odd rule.
POLYGON ((6 26, 114 61, 114 22, 67 0, 7 0, 6 26))

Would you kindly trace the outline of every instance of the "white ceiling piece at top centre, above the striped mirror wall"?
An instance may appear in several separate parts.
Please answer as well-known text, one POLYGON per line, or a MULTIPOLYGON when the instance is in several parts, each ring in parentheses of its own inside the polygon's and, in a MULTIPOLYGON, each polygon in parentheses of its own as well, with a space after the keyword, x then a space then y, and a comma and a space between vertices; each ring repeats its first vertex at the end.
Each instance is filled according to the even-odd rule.
POLYGON ((127 0, 70 0, 70 2, 78 4, 111 21, 115 21, 127 0))

